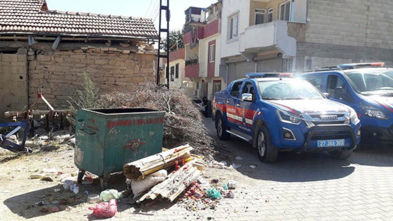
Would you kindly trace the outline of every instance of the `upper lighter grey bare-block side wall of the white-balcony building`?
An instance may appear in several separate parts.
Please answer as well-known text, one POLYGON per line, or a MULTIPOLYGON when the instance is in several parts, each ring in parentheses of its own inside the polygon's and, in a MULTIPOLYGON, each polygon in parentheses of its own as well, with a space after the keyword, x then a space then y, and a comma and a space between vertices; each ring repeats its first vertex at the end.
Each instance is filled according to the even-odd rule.
POLYGON ((306 42, 393 49, 392 0, 309 0, 306 42))

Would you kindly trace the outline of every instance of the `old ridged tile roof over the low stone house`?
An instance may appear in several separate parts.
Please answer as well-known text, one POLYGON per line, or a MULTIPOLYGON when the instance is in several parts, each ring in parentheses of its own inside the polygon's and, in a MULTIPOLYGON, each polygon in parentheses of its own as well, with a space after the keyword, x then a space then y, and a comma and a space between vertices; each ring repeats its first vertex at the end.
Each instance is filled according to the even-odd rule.
POLYGON ((0 0, 0 33, 156 39, 151 19, 42 11, 44 0, 0 0))

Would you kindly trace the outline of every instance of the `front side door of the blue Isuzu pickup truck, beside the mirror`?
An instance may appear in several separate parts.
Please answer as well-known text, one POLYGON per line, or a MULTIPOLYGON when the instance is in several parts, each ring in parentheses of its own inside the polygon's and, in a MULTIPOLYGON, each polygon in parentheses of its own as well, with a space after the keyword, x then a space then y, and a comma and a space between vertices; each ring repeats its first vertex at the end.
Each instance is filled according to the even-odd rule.
MULTIPOLYGON (((255 104, 257 98, 257 87, 252 81, 246 81, 242 88, 242 94, 252 94, 252 101, 240 100, 239 115, 242 117, 241 125, 238 125, 242 133, 252 136, 252 121, 254 118, 255 110, 258 108, 255 104)), ((241 98, 241 96, 240 96, 241 98)))

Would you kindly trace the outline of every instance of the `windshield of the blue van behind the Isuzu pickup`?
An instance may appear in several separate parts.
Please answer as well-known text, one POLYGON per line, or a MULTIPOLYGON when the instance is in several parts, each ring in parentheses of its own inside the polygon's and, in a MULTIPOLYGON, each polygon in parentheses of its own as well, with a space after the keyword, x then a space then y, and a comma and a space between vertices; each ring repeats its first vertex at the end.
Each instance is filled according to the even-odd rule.
POLYGON ((347 73, 345 77, 357 93, 364 95, 393 94, 392 70, 351 72, 347 73))

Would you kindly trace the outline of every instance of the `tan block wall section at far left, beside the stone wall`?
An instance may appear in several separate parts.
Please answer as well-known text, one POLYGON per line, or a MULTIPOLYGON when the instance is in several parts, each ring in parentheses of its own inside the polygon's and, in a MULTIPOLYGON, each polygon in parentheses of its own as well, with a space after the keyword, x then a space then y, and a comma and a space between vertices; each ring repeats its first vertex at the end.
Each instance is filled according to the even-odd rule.
POLYGON ((22 110, 28 105, 27 50, 0 53, 0 119, 4 112, 22 110))

